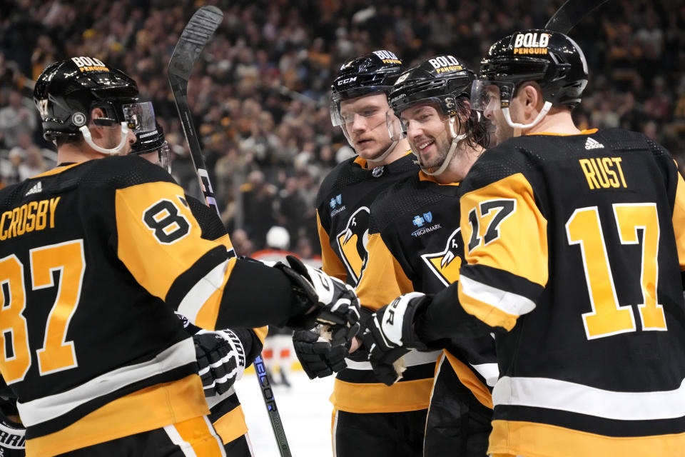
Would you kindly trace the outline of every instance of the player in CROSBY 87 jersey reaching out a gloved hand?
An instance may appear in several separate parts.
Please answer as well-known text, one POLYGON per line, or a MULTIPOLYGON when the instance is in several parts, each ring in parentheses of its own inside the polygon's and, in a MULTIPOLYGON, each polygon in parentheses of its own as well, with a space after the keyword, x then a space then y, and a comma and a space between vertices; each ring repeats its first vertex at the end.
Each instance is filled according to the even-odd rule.
POLYGON ((29 456, 223 455, 174 311, 210 330, 325 319, 335 336, 355 331, 343 283, 229 258, 166 171, 116 156, 154 125, 137 95, 98 59, 48 66, 34 101, 59 165, 0 191, 0 372, 29 456))

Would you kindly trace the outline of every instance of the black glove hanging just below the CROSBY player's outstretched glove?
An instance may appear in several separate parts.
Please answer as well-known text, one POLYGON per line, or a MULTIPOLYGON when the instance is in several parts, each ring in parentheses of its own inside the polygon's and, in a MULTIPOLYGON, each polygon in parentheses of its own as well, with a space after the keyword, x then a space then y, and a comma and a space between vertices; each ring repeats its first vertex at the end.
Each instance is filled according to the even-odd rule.
POLYGON ((347 366, 347 346, 331 346, 317 331, 298 330, 293 333, 295 355, 310 379, 325 378, 347 366))

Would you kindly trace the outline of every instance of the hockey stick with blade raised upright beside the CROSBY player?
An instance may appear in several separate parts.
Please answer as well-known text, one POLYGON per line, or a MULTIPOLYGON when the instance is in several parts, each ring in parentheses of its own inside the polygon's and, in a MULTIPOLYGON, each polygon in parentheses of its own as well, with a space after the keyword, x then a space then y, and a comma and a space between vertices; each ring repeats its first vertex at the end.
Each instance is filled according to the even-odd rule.
MULTIPOLYGON (((203 6, 198 9, 193 14, 193 17, 191 17, 191 20, 188 21, 186 28, 183 29, 181 37, 178 39, 178 44, 176 44, 176 48, 171 54, 168 67, 169 84, 171 84, 173 100, 176 103, 176 109, 178 109, 178 116, 181 118, 183 133, 186 135, 186 141, 188 141, 193 166, 195 166, 198 172, 200 189, 202 189, 207 205, 215 209, 217 214, 219 214, 219 210, 218 206, 216 206, 214 190, 209 180, 205 160, 200 149, 200 142, 193 125, 191 110, 188 107, 188 79, 190 79, 195 61, 214 34, 214 31, 221 24, 222 19, 223 13, 215 6, 203 6)), ((273 389, 266 374, 266 367, 262 357, 258 355, 253 364, 257 372, 257 381, 264 398, 271 428, 273 429, 276 443, 278 443, 278 451, 280 451, 281 457, 290 457, 290 448, 285 437, 283 421, 281 421, 280 413, 278 413, 278 408, 276 407, 273 389)))

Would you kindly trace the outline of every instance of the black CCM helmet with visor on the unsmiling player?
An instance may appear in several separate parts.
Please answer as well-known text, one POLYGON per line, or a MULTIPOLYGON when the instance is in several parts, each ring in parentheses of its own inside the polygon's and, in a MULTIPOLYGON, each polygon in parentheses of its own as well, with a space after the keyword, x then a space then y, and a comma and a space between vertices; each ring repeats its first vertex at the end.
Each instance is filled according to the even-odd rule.
POLYGON ((333 126, 343 124, 340 101, 383 92, 386 95, 402 73, 402 60, 391 51, 373 51, 345 62, 330 86, 330 119, 333 126))

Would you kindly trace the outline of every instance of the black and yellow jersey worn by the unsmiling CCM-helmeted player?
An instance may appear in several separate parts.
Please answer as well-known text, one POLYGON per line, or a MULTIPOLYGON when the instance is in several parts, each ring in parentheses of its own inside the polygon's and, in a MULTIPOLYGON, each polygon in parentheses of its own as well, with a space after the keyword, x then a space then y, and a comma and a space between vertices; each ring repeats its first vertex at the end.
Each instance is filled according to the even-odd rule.
MULTIPOLYGON (((368 258, 372 201, 382 189, 415 174, 419 168, 414 160, 407 151, 407 155, 390 164, 367 169, 367 162, 357 157, 342 162, 326 176, 317 196, 323 271, 357 286, 368 258)), ((397 290, 396 285, 393 290, 397 290)), ((362 306, 369 308, 364 293, 357 291, 357 295, 362 306)), ((425 365, 430 362, 427 356, 420 353, 417 356, 414 362, 423 365, 420 374, 390 387, 377 381, 370 363, 348 359, 347 368, 336 376, 331 403, 350 413, 394 413, 427 408, 433 373, 425 365)), ((435 358, 432 356, 432 362, 435 358)))

